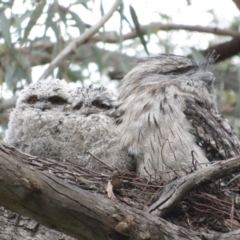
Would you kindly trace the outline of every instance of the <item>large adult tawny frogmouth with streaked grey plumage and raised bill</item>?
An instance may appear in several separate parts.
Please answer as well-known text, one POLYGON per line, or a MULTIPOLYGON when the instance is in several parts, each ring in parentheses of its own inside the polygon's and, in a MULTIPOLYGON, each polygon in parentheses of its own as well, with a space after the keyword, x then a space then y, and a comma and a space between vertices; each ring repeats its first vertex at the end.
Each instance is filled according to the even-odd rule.
POLYGON ((121 144, 137 172, 169 177, 240 153, 239 140, 217 110, 207 64, 161 55, 139 62, 122 80, 121 144))

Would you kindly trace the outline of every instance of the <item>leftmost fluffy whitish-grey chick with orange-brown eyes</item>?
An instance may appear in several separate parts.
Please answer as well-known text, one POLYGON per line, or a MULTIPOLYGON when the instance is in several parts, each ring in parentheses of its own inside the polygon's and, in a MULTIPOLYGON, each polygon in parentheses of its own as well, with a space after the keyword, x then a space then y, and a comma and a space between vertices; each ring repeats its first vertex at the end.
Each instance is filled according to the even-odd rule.
POLYGON ((30 84, 11 112, 5 142, 32 155, 61 158, 58 128, 71 110, 68 84, 58 79, 30 84))

